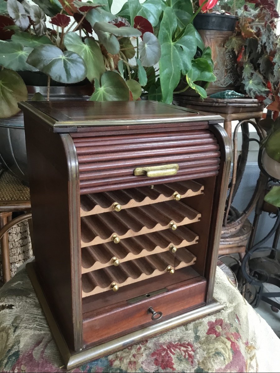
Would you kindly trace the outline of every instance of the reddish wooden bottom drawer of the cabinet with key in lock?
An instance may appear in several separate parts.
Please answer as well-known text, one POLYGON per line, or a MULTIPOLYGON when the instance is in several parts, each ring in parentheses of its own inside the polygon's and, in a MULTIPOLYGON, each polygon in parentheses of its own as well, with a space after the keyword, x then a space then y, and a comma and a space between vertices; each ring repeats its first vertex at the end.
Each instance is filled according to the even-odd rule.
MULTIPOLYGON (((175 285, 168 286, 165 291, 144 300, 130 303, 129 300, 105 306, 95 312, 84 314, 84 344, 105 341, 114 335, 123 335, 132 329, 166 320, 178 311, 186 310, 205 301, 206 280, 197 277, 175 285), (161 311, 162 317, 152 321, 148 308, 161 311)), ((111 293, 112 294, 112 293, 111 293)), ((148 294, 149 295, 149 294, 148 294)))

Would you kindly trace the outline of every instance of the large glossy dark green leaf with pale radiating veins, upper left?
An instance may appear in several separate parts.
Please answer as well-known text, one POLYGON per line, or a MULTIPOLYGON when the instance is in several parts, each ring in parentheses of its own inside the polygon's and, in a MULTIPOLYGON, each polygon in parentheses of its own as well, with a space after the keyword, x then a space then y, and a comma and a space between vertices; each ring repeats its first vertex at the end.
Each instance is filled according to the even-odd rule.
POLYGON ((77 83, 87 75, 82 57, 68 50, 62 52, 56 46, 42 45, 35 48, 29 54, 27 63, 60 83, 77 83))

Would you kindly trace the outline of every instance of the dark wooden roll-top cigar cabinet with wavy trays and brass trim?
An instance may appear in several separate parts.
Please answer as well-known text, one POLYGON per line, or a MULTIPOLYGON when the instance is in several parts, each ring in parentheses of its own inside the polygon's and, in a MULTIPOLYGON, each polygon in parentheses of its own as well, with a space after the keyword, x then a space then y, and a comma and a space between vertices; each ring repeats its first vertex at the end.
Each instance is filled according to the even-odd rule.
POLYGON ((154 101, 30 101, 29 277, 67 369, 222 306, 231 146, 220 116, 154 101))

